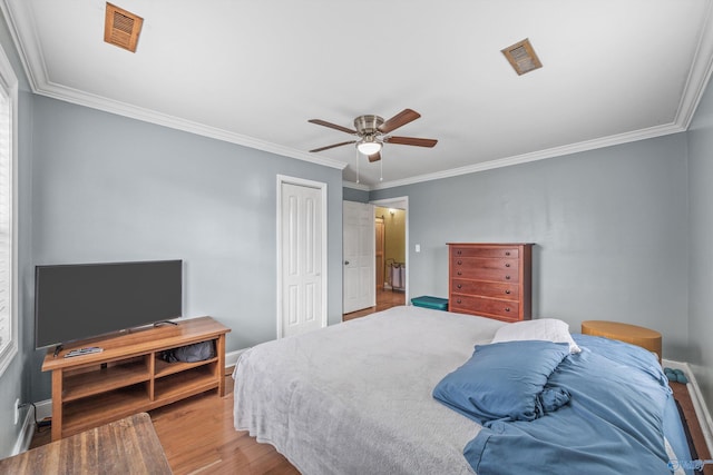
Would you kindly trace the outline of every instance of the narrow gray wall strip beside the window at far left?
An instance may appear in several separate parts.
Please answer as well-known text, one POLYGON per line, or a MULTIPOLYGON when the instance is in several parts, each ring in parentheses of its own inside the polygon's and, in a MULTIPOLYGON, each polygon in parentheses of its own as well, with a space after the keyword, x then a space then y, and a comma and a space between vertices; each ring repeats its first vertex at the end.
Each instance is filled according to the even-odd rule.
MULTIPOLYGON (((28 298, 27 286, 33 279, 33 269, 31 267, 31 225, 30 217, 30 170, 31 170, 31 103, 32 95, 29 92, 29 85, 25 77, 22 65, 19 60, 14 44, 10 37, 3 16, 0 13, 0 46, 12 65, 14 75, 19 81, 18 95, 18 157, 17 157, 17 217, 16 226, 18 230, 17 239, 17 259, 18 259, 18 354, 10 363, 10 366, 0 376, 0 458, 13 455, 16 443, 21 435, 22 424, 13 424, 14 418, 14 400, 20 399, 21 403, 29 403, 31 398, 30 379, 31 379, 31 360, 33 356, 33 344, 31 335, 28 330, 30 326, 22 315, 28 308, 32 308, 32 300, 28 298)), ((21 420, 28 410, 20 412, 21 420)))

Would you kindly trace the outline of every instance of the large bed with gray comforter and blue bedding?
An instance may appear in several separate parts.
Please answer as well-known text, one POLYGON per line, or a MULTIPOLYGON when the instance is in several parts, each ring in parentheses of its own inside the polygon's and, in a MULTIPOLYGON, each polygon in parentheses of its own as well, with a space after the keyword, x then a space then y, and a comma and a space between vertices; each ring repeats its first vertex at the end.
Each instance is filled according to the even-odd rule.
MULTIPOLYGON (((566 342, 549 335, 534 343, 497 340, 511 325, 517 324, 408 306, 257 345, 235 367, 234 426, 275 446, 306 475, 486 475, 518 467, 553 474, 672 473, 670 461, 690 459, 654 355, 568 333, 566 342), (539 344, 546 347, 521 347, 539 344), (497 362, 509 359, 502 352, 547 356, 515 358, 484 372, 478 365, 488 352, 497 362), (553 370, 543 373, 545 379, 538 374, 535 408, 530 395, 517 412, 484 409, 470 395, 448 398, 452 387, 472 390, 473 374, 489 375, 475 378, 485 385, 479 395, 502 380, 508 394, 519 394, 519 387, 507 387, 508 372, 539 359, 553 370)), ((509 375, 516 384, 529 379, 509 375)), ((486 406, 502 406, 498 395, 485 399, 486 406)))

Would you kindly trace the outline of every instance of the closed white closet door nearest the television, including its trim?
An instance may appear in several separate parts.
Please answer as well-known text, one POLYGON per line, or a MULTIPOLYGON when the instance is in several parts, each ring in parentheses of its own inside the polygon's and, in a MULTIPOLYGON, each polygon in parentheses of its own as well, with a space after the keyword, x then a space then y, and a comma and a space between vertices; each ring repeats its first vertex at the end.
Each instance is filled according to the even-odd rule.
POLYGON ((290 336, 326 326, 322 269, 326 264, 324 190, 291 182, 280 186, 279 336, 290 336))

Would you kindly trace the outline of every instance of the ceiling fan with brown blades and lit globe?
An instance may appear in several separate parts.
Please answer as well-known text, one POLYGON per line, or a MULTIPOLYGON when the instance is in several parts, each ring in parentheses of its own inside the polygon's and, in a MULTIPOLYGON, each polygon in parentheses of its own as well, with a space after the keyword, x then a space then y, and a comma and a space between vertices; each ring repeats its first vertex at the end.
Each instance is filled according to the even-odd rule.
POLYGON ((354 129, 338 126, 321 119, 310 119, 309 122, 316 123, 318 126, 329 127, 331 129, 341 130, 352 136, 356 136, 356 139, 328 145, 326 147, 315 148, 310 150, 311 152, 328 150, 334 147, 341 147, 349 144, 356 144, 356 149, 369 157, 369 161, 381 160, 381 147, 384 144, 398 144, 398 145, 411 145, 416 147, 433 147, 438 142, 434 139, 419 139, 416 137, 398 137, 389 136, 387 133, 398 129, 401 126, 406 126, 409 122, 421 117, 419 112, 411 109, 403 109, 389 120, 383 120, 379 116, 359 116, 354 119, 354 129))

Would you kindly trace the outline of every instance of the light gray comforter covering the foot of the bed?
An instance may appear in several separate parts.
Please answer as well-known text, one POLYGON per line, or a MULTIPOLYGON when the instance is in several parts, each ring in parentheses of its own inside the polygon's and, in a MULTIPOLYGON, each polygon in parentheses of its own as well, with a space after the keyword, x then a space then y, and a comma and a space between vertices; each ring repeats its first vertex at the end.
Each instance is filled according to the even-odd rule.
POLYGON ((235 367, 235 428, 305 475, 472 474, 480 426, 431 393, 502 325, 395 307, 255 346, 235 367))

